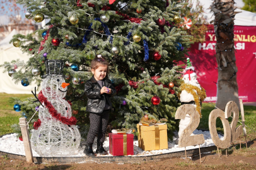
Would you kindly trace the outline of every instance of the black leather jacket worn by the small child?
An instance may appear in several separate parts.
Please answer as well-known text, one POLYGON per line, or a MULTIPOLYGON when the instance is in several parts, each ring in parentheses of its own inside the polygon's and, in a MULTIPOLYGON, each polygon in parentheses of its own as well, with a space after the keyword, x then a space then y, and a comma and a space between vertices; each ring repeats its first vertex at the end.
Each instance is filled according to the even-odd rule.
POLYGON ((112 94, 100 94, 100 89, 102 88, 100 87, 100 84, 98 84, 94 77, 91 77, 90 80, 85 82, 84 93, 88 98, 86 111, 89 111, 91 113, 102 113, 106 104, 106 99, 112 111, 112 103, 110 101, 110 98, 115 96, 117 91, 113 87, 112 82, 109 79, 105 78, 103 79, 103 81, 103 86, 110 88, 112 90, 112 94))

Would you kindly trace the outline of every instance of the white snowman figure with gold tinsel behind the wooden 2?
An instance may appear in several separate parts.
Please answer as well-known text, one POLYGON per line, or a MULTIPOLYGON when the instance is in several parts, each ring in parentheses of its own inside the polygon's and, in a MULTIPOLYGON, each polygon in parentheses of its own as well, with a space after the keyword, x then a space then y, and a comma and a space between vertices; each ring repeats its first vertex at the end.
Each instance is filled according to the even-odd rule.
MULTIPOLYGON (((180 101, 182 105, 189 104, 194 105, 197 112, 201 117, 201 103, 206 98, 206 91, 202 88, 197 81, 197 74, 195 74, 195 68, 192 66, 190 59, 187 58, 187 67, 185 68, 185 74, 183 76, 184 83, 180 86, 182 92, 180 93, 180 101)), ((189 125, 190 116, 187 114, 184 119, 180 120, 178 136, 182 134, 183 130, 189 125)))

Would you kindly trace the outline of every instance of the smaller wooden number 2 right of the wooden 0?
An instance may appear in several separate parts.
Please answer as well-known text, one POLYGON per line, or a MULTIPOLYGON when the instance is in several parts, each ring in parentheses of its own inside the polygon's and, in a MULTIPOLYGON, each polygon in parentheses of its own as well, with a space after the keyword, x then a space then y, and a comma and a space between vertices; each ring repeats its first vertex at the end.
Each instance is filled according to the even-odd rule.
POLYGON ((231 141, 235 142, 238 137, 240 137, 241 133, 243 133, 243 127, 240 125, 236 128, 236 124, 238 122, 239 118, 239 110, 238 106, 236 105, 235 101, 229 101, 228 104, 226 104, 225 108, 225 118, 229 118, 231 116, 231 112, 233 112, 233 119, 230 124, 231 128, 231 141))

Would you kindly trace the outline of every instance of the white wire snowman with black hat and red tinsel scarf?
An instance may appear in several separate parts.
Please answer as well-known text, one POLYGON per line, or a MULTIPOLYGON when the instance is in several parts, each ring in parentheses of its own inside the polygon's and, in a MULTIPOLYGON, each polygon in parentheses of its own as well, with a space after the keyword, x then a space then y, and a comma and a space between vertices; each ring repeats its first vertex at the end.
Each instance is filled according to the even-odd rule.
POLYGON ((62 60, 46 60, 46 72, 38 99, 38 121, 34 123, 31 143, 40 156, 71 156, 77 152, 81 135, 72 116, 71 105, 63 99, 67 86, 62 75, 62 60))

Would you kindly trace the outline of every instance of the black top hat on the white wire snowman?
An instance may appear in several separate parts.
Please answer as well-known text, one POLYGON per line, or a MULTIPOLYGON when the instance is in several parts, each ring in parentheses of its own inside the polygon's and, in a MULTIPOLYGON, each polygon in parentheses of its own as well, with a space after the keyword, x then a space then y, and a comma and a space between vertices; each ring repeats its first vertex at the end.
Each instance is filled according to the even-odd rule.
POLYGON ((46 74, 42 77, 62 76, 65 78, 67 76, 63 75, 63 67, 63 60, 45 60, 46 74))

